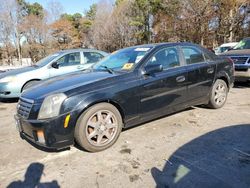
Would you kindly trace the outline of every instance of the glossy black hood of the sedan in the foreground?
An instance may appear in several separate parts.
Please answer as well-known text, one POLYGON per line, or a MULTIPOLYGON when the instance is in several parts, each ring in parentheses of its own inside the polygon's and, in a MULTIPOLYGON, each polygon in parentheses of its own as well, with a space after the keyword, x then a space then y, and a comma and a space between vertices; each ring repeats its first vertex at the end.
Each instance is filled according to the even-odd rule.
POLYGON ((43 100, 46 96, 55 93, 66 93, 72 89, 82 87, 100 80, 112 78, 116 74, 104 71, 78 72, 51 78, 31 87, 22 94, 23 98, 35 101, 43 100))

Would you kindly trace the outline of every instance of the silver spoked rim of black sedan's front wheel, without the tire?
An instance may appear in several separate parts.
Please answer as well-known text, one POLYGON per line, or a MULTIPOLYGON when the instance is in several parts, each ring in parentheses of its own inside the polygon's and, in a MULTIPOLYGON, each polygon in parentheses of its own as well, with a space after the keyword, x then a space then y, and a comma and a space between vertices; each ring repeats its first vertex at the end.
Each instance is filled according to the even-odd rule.
POLYGON ((118 130, 118 121, 109 110, 99 110, 87 122, 86 136, 90 144, 104 146, 109 144, 118 130))

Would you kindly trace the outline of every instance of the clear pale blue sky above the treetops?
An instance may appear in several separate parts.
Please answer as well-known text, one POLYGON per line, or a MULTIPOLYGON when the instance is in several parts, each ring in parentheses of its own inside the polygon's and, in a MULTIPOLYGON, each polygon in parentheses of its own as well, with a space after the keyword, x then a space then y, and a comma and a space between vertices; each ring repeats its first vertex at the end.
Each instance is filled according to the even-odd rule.
MULTIPOLYGON (((29 3, 37 2, 41 4, 44 8, 47 7, 47 4, 50 0, 26 0, 29 3)), ((52 0, 54 1, 54 0, 52 0)), ((97 3, 99 0, 56 0, 63 6, 63 12, 68 14, 74 13, 84 13, 84 10, 88 10, 89 7, 97 3)))

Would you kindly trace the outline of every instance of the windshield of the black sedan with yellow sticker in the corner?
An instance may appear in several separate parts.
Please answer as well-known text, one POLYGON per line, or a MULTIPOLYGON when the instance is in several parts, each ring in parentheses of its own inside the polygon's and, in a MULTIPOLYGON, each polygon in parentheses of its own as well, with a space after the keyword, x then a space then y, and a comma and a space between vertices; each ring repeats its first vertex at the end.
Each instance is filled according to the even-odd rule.
POLYGON ((112 53, 93 66, 94 70, 131 71, 152 47, 125 48, 112 53))

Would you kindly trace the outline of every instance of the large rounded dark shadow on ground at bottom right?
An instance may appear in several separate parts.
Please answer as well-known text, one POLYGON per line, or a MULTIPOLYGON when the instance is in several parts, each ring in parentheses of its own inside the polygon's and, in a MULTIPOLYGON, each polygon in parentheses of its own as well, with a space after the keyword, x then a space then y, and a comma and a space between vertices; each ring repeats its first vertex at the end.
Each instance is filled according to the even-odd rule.
POLYGON ((158 188, 250 187, 250 124, 218 129, 179 148, 163 170, 151 169, 158 188))

